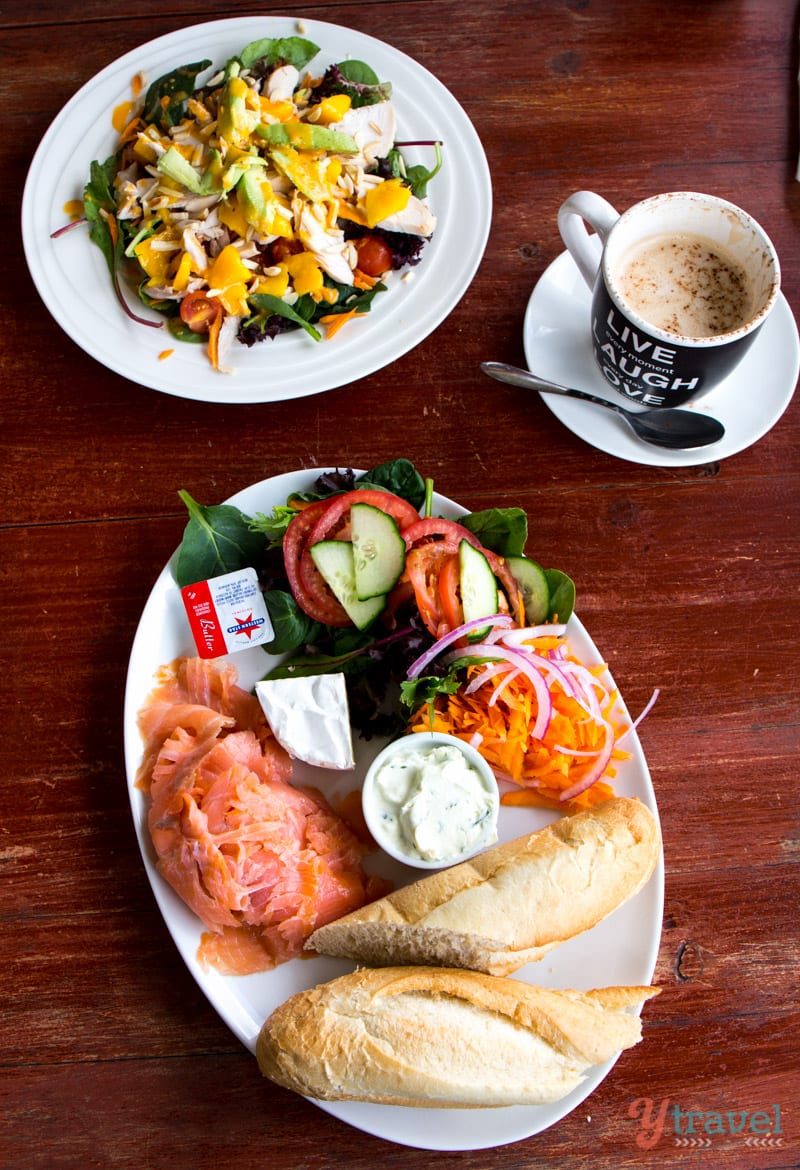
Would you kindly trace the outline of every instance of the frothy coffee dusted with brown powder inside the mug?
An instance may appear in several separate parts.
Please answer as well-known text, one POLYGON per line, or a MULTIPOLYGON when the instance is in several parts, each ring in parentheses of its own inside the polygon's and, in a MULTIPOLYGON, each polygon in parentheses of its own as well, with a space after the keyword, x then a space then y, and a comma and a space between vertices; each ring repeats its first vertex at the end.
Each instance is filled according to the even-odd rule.
POLYGON ((649 236, 620 261, 616 278, 644 321, 682 337, 716 337, 753 312, 747 275, 715 240, 689 232, 649 236))

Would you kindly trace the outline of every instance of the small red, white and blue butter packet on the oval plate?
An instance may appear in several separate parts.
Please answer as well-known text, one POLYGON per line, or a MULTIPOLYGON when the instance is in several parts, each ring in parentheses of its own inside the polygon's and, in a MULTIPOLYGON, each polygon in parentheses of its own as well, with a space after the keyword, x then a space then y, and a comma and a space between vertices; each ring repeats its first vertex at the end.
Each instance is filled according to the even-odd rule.
POLYGON ((261 646, 275 636, 255 569, 240 569, 180 591, 200 658, 261 646))

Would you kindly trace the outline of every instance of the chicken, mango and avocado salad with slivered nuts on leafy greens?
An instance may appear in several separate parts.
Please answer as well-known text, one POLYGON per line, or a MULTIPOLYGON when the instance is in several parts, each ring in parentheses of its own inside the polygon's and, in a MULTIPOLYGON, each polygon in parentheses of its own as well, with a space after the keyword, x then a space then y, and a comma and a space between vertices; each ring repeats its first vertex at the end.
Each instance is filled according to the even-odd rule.
MULTIPOLYGON (((302 36, 247 44, 208 80, 182 66, 115 111, 119 142, 91 164, 83 215, 123 292, 207 344, 227 371, 235 340, 287 330, 315 340, 370 311, 388 274, 421 259, 436 220, 427 185, 395 140, 391 84, 361 61, 310 70, 302 36)), ((74 225, 70 225, 70 227, 74 225)))

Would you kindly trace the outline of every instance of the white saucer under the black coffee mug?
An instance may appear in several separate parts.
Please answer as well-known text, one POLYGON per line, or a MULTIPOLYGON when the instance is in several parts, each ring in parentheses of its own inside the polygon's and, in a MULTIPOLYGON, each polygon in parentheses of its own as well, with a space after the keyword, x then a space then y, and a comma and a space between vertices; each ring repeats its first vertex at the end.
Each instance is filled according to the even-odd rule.
MULTIPOLYGON (((592 353, 592 297, 568 252, 561 253, 539 278, 525 311, 523 344, 530 370, 566 386, 613 398, 592 353)), ((719 442, 695 450, 665 450, 637 439, 611 411, 574 399, 543 394, 561 422, 586 442, 632 463, 650 467, 694 467, 736 455, 757 442, 781 417, 800 373, 800 339, 789 305, 781 294, 771 316, 740 364, 696 406, 725 427, 719 442)))

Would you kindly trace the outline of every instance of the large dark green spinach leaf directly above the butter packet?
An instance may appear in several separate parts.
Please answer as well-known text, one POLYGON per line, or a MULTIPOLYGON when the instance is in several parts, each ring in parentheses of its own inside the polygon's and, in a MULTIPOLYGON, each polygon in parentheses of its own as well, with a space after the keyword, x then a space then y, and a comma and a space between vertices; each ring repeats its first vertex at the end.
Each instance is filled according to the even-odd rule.
POLYGON ((175 580, 181 589, 257 564, 263 553, 264 538, 260 532, 251 531, 244 512, 233 504, 204 508, 188 491, 179 491, 178 495, 189 514, 175 565, 175 580))

